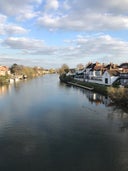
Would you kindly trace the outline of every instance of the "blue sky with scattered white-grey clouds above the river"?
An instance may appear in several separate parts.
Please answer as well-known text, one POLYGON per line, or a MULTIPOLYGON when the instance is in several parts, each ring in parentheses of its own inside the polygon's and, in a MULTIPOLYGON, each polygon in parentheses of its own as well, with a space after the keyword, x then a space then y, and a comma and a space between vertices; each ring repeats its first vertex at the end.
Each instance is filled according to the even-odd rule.
POLYGON ((1 0, 0 65, 128 62, 128 0, 1 0))

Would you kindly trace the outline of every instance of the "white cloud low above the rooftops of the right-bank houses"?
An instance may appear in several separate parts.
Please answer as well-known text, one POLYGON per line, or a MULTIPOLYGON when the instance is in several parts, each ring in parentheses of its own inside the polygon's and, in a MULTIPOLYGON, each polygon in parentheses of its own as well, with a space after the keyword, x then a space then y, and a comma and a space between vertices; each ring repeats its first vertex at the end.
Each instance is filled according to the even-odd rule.
POLYGON ((57 56, 61 57, 63 63, 69 65, 80 62, 86 64, 88 61, 104 63, 127 61, 128 42, 110 35, 81 35, 66 42, 67 46, 59 48, 57 56))

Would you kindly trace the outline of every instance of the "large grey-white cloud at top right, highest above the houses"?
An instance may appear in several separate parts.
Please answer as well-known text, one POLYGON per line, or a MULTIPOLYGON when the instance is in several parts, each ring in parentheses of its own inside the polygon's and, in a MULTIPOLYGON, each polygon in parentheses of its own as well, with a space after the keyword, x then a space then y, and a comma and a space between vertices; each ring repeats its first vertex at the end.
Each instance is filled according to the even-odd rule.
POLYGON ((127 6, 127 0, 66 0, 57 5, 59 12, 42 12, 38 24, 77 31, 128 29, 127 6))

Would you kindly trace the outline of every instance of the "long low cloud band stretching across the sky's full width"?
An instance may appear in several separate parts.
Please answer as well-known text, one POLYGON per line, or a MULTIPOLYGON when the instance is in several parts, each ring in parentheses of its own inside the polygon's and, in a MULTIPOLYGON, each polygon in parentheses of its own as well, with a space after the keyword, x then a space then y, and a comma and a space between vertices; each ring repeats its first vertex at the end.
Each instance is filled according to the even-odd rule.
POLYGON ((78 36, 74 40, 66 40, 67 46, 53 47, 45 45, 44 41, 28 39, 24 37, 9 37, 2 44, 11 49, 19 49, 24 53, 35 55, 56 55, 67 57, 89 57, 89 56, 127 56, 128 42, 110 35, 78 36))

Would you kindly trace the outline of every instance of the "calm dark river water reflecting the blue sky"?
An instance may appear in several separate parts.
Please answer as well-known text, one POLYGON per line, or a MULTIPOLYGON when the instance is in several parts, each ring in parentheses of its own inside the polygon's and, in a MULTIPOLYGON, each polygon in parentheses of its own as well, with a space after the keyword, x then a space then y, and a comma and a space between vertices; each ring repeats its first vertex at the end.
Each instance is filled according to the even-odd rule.
POLYGON ((0 87, 0 171, 127 170, 127 109, 58 75, 0 87))

